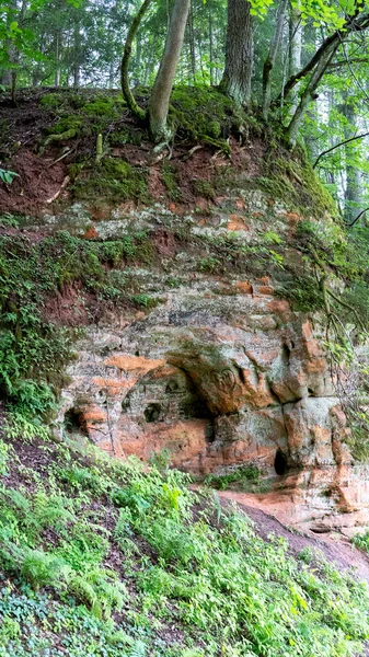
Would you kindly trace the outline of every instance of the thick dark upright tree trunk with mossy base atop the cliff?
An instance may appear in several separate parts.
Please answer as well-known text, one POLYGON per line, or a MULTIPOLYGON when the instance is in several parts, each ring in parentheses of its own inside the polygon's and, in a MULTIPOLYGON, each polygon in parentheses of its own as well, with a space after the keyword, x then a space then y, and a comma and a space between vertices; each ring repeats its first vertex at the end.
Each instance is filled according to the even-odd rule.
POLYGON ((247 0, 228 0, 226 67, 220 91, 250 107, 254 60, 254 30, 247 0))

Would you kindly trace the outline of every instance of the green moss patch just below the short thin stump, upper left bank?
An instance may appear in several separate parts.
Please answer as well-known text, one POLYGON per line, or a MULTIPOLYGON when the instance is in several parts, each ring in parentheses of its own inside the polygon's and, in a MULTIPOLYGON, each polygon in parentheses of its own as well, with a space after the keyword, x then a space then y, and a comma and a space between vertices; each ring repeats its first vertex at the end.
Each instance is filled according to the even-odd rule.
POLYGON ((122 203, 132 199, 149 203, 147 173, 142 168, 134 168, 123 160, 104 158, 100 165, 90 165, 73 185, 78 200, 104 199, 122 203))

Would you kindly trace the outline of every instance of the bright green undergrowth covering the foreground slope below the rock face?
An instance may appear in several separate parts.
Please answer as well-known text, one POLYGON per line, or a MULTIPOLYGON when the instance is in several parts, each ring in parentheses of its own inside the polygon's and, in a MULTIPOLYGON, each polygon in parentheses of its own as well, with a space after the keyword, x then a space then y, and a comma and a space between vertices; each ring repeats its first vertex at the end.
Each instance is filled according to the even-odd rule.
POLYGON ((187 475, 0 442, 0 655, 348 657, 369 591, 263 541, 187 475))

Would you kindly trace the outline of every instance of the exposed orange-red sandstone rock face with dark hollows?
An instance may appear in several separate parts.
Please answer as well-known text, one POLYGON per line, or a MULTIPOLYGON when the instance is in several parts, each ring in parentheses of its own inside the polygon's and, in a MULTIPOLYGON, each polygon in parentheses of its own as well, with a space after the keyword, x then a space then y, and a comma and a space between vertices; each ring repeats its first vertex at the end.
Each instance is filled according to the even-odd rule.
MULTIPOLYGON (((249 234, 251 209, 237 206, 224 230, 249 234)), ((286 230, 292 219, 282 215, 286 230)), ((122 230, 113 223, 96 229, 112 237, 122 230)), ((175 466, 196 475, 256 464, 293 509, 291 519, 367 518, 369 483, 353 466, 311 320, 273 296, 267 273, 228 288, 219 277, 219 289, 188 276, 149 315, 113 316, 91 331, 69 368, 60 423, 69 414, 72 433, 122 458, 148 460, 166 448, 175 466), (284 473, 276 472, 277 452, 284 473)))

